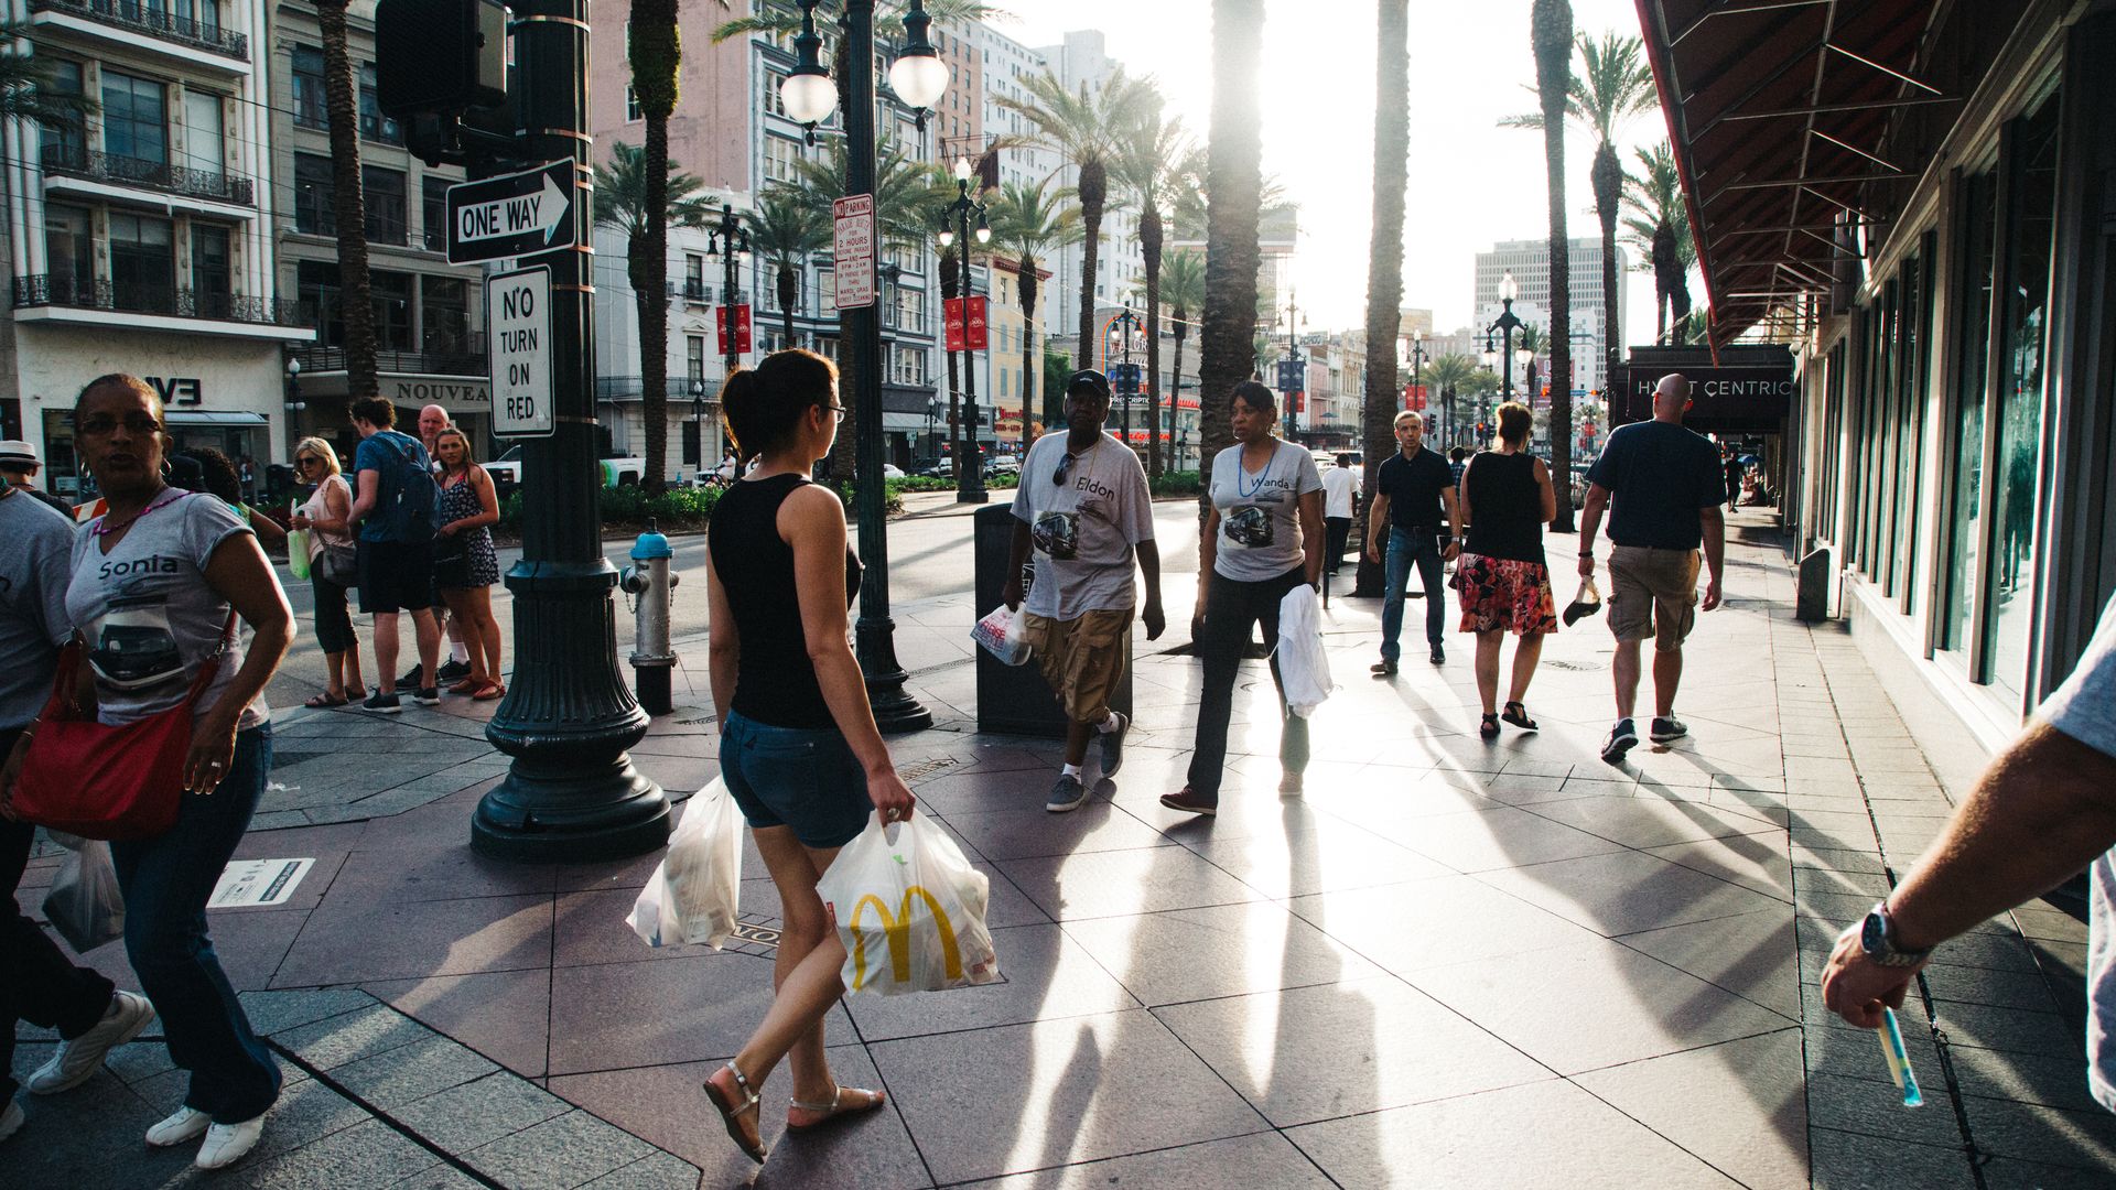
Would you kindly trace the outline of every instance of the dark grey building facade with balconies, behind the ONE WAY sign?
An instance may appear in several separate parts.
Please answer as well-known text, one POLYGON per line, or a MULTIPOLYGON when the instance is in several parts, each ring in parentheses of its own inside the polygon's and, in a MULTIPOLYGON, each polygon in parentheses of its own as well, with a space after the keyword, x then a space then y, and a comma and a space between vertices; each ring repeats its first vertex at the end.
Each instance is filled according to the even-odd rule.
MULTIPOLYGON (((339 275, 339 227, 332 208, 330 112, 324 100, 324 38, 315 6, 281 0, 273 8, 271 174, 284 195, 273 222, 279 292, 298 301, 315 328, 292 351, 298 375, 288 385, 290 436, 320 434, 351 457, 358 434, 345 415, 345 309, 339 275)), ((493 392, 485 345, 485 273, 449 265, 449 186, 457 167, 430 169, 404 148, 404 129, 381 114, 375 78, 375 2, 347 13, 360 106, 360 191, 366 208, 368 292, 375 305, 377 379, 404 415, 440 404, 489 453, 493 392)), ((487 455, 489 457, 489 455, 487 455)))

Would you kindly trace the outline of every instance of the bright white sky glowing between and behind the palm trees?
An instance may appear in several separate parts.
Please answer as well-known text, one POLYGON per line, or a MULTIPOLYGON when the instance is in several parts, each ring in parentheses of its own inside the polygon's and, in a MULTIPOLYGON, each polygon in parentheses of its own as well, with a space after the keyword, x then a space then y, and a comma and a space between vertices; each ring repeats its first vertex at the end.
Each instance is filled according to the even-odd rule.
MULTIPOLYGON (((1210 0, 995 0, 995 28, 1028 47, 1100 30, 1109 55, 1151 74, 1204 140, 1212 112, 1210 0)), ((1634 0, 1572 0, 1574 25, 1638 36, 1634 0)), ((1310 328, 1367 320, 1373 220, 1373 2, 1267 0, 1263 30, 1263 169, 1301 205, 1295 288, 1310 328)), ((1403 229, 1403 305, 1433 309, 1441 332, 1466 326, 1475 254, 1498 239, 1549 235, 1543 133, 1500 129, 1534 110, 1528 0, 1411 4, 1411 186, 1403 229), (1528 89, 1524 89, 1528 87, 1528 89)), ((1629 146, 1667 136, 1659 112, 1623 129, 1629 146)), ((1587 165, 1593 144, 1566 138, 1574 237, 1600 235, 1587 165)), ((1593 294, 1589 294, 1593 296, 1593 294)), ((1579 301, 1579 299, 1574 299, 1579 301)), ((1595 296, 1598 301, 1598 296, 1595 296)), ((1623 324, 1653 328, 1653 280, 1634 273, 1623 324)))

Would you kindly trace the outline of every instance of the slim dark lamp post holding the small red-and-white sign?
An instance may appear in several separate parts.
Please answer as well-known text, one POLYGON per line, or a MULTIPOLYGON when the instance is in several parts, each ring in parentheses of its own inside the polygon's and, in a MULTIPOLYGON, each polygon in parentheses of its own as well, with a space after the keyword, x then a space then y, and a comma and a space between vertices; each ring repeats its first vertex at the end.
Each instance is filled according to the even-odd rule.
MULTIPOLYGON (((844 4, 844 140, 849 195, 874 193, 874 0, 844 4)), ((859 491, 859 620, 853 642, 868 703, 882 731, 933 726, 933 711, 904 690, 897 625, 889 618, 889 491, 882 487, 882 318, 872 303, 840 313, 853 362, 855 487, 859 491)))

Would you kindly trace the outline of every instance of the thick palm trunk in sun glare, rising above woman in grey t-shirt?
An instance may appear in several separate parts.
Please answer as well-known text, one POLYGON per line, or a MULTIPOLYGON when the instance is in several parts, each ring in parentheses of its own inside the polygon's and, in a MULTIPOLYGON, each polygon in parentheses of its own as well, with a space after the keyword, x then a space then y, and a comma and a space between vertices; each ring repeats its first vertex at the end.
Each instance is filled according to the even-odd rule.
POLYGON ((1234 443, 1234 385, 1257 356, 1257 216, 1263 199, 1263 0, 1212 0, 1212 136, 1206 148, 1204 328, 1198 447, 1234 443))

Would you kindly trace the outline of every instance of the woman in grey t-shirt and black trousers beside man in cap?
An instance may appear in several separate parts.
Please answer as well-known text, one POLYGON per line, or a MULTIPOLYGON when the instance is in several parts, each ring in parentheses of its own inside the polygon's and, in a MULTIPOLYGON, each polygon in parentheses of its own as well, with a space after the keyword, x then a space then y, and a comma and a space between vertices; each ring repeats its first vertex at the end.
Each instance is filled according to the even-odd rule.
POLYGON ((1322 584, 1322 479, 1306 447, 1272 436, 1278 398, 1257 381, 1234 385, 1236 443, 1212 455, 1200 540, 1202 582, 1191 614, 1191 642, 1204 656, 1198 703, 1198 739, 1189 783, 1162 794, 1162 805, 1189 813, 1219 813, 1219 783, 1227 769, 1227 722, 1234 718, 1234 678, 1242 669, 1248 629, 1263 627, 1278 688, 1278 792, 1299 794, 1308 771, 1308 720, 1287 709, 1278 675, 1278 601, 1301 582, 1322 584))

